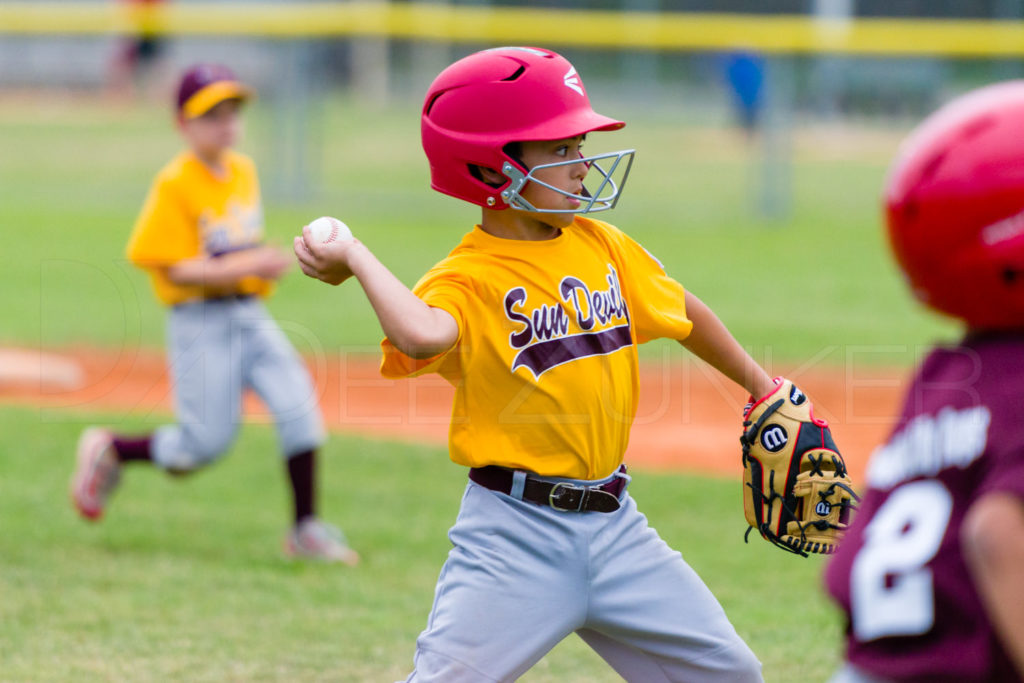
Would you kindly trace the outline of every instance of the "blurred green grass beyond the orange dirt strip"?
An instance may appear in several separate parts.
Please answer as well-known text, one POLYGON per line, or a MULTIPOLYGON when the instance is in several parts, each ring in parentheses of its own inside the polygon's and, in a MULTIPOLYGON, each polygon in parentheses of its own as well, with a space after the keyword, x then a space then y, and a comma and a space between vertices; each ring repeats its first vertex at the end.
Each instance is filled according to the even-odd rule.
MULTIPOLYGON (((794 360, 835 348, 841 362, 848 346, 954 334, 911 301, 886 247, 881 188, 905 126, 798 129, 792 216, 772 220, 755 199, 763 155, 727 123, 688 122, 685 112, 600 93, 594 100, 628 125, 592 135, 588 150, 637 150, 624 199, 602 217, 655 254, 744 345, 794 360)), ((304 223, 334 215, 412 286, 478 212, 429 189, 416 102, 379 109, 333 98, 316 116, 319 186, 302 202, 267 191, 270 239, 288 246, 304 223)), ((241 145, 264 178, 274 174, 274 121, 254 105, 241 145)), ((123 251, 153 176, 180 147, 169 113, 0 101, 0 340, 160 346, 163 311, 123 251)), ((297 269, 270 307, 304 331, 300 345, 372 351, 380 336, 357 287, 328 289, 297 269)), ((904 361, 881 351, 863 357, 904 361)))

